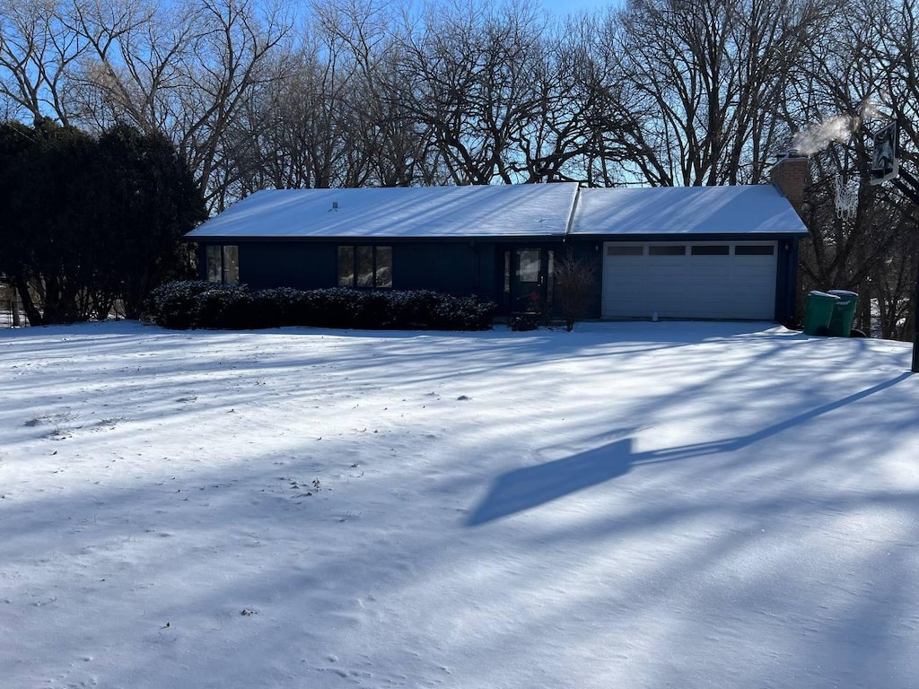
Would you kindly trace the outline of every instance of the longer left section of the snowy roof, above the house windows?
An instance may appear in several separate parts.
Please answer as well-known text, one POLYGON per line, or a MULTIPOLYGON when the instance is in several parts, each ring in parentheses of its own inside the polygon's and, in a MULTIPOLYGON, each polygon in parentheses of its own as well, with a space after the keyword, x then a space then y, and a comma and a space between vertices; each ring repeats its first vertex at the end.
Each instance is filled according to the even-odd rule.
POLYGON ((562 236, 577 191, 574 183, 259 191, 186 237, 562 236))

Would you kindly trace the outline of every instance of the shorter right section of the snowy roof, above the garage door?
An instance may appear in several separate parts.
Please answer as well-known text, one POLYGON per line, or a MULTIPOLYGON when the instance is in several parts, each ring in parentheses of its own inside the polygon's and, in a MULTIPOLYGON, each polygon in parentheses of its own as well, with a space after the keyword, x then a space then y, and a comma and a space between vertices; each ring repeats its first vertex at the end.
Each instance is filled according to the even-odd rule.
POLYGON ((654 186, 582 189, 572 234, 806 235, 775 186, 654 186))

